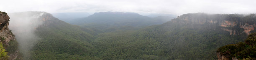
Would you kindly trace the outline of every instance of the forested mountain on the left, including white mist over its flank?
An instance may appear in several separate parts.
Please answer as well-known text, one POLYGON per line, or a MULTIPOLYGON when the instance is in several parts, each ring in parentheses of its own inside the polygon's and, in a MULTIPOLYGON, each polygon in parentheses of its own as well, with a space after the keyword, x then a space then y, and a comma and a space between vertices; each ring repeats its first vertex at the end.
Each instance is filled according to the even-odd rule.
POLYGON ((70 25, 46 12, 10 14, 10 28, 19 42, 21 60, 81 60, 94 57, 97 32, 70 25))

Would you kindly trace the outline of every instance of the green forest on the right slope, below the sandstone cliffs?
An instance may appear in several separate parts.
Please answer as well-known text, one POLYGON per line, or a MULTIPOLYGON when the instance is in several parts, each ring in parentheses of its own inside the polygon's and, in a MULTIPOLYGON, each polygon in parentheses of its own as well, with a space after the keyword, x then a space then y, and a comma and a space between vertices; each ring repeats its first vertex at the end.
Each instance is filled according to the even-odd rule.
POLYGON ((103 33, 92 44, 99 51, 98 55, 106 60, 214 60, 217 59, 215 51, 218 47, 242 39, 243 36, 229 35, 229 32, 209 28, 209 25, 168 22, 136 32, 103 33))

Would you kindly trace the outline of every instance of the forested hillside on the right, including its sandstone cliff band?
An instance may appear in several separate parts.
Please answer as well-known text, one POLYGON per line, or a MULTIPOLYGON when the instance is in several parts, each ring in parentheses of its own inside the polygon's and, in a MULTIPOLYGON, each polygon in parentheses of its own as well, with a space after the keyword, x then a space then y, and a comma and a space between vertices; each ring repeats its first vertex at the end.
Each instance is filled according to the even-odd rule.
POLYGON ((255 32, 255 14, 184 14, 138 31, 98 35, 92 42, 104 59, 216 60, 218 47, 255 32))

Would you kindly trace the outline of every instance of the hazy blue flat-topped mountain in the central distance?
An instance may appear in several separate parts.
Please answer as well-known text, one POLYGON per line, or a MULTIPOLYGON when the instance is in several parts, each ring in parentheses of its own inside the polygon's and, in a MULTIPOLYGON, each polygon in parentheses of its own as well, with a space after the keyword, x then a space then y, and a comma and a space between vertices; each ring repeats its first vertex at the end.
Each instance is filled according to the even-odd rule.
POLYGON ((83 28, 96 28, 98 30, 116 29, 124 26, 141 27, 158 25, 165 23, 172 18, 157 17, 149 18, 137 13, 122 12, 100 12, 94 13, 86 18, 74 20, 71 24, 79 25, 83 28))

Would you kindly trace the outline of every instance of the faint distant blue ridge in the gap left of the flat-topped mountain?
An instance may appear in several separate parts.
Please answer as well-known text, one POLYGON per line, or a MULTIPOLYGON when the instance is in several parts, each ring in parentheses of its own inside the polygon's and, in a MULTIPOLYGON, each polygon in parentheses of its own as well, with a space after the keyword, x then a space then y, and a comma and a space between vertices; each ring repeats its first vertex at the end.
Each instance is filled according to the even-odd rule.
POLYGON ((51 13, 51 14, 54 17, 58 18, 59 20, 65 21, 67 23, 77 18, 85 18, 91 15, 89 13, 51 13))

